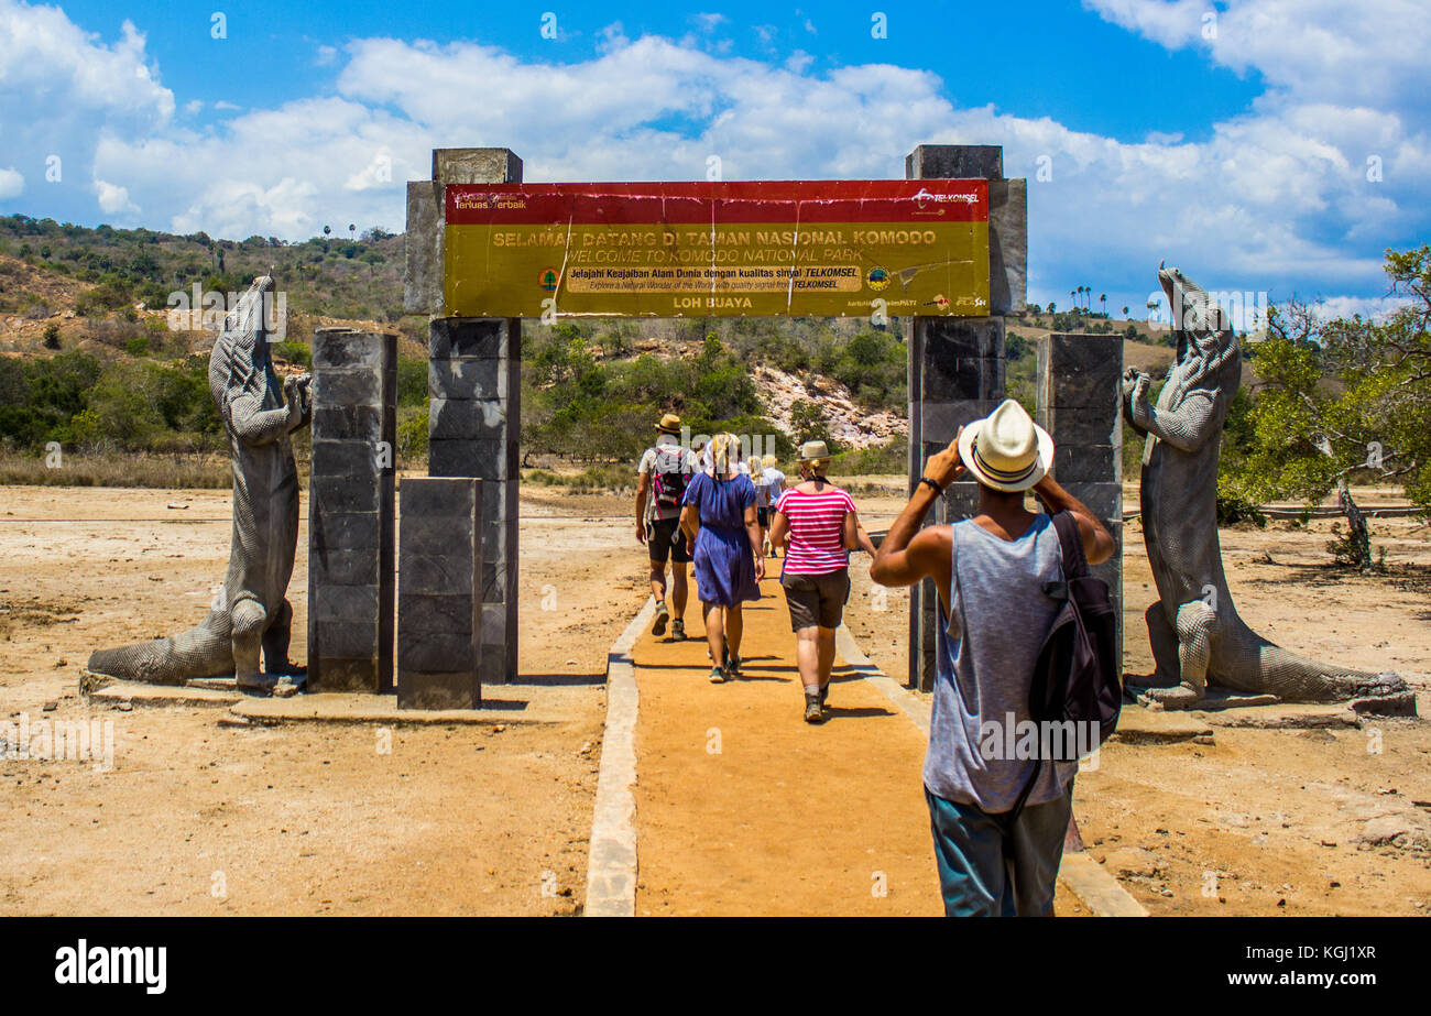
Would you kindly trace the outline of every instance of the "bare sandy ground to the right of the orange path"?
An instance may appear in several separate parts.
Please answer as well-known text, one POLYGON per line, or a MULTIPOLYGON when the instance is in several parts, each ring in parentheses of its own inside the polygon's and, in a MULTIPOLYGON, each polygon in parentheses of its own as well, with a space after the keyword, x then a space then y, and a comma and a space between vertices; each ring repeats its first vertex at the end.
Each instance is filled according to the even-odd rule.
MULTIPOLYGON (((1133 507, 1136 488, 1126 494, 1133 507)), ((871 529, 903 507, 899 498, 857 504, 871 529)), ((1255 631, 1304 655, 1395 670, 1431 717, 1431 531, 1410 518, 1371 527, 1372 544, 1387 548, 1387 575, 1332 568, 1331 521, 1274 521, 1222 531, 1228 581, 1255 631)), ((1156 594, 1141 527, 1129 522, 1125 535, 1125 670, 1146 674, 1143 611, 1156 594)), ((846 621, 877 665, 902 675, 907 595, 851 571, 846 621)), ((1368 720, 1364 730, 1218 726, 1211 746, 1113 743, 1098 771, 1079 777, 1075 814, 1090 854, 1153 914, 1431 914, 1427 720, 1368 720), (1388 823, 1412 833, 1407 846, 1357 841, 1388 823)))

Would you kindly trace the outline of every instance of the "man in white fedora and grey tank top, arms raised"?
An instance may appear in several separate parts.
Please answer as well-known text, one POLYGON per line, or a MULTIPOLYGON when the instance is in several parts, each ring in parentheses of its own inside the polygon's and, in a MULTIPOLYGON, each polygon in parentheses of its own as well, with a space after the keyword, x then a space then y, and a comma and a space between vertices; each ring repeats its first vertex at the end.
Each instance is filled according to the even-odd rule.
POLYGON ((1116 548, 1108 528, 1049 475, 1052 462, 1047 431, 1007 399, 929 458, 870 565, 881 585, 932 578, 939 588, 946 628, 936 640, 924 797, 949 916, 1053 912, 1076 763, 1045 766, 1012 829, 1006 821, 1035 758, 1005 757, 1005 747, 1032 720, 1033 667, 1059 607, 1043 588, 1063 577, 1052 515, 1025 508, 1026 494, 1049 512, 1073 512, 1089 564, 1116 548), (979 514, 922 529, 934 499, 966 472, 979 481, 979 514))

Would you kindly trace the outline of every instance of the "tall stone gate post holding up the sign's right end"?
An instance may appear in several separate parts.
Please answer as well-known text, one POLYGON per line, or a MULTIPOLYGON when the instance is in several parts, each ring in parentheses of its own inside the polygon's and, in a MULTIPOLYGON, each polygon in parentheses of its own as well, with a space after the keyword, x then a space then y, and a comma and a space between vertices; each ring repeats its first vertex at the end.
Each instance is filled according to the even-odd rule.
MULTIPOLYGON (((914 318, 909 331, 910 491, 924 459, 949 445, 959 428, 1003 401, 1003 315, 1022 311, 1026 283, 1025 180, 1003 179, 997 145, 920 145, 904 159, 904 176, 989 180, 989 318, 914 318)), ((960 482, 926 525, 975 514, 977 485, 960 482)), ((934 680, 937 592, 930 581, 910 590, 909 685, 929 691, 934 680)))

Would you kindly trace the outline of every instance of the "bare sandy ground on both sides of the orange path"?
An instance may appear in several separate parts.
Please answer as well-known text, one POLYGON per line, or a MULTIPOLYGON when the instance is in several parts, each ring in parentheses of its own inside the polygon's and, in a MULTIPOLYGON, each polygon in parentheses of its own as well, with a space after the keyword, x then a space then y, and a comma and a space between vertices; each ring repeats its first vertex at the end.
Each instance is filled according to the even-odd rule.
MULTIPOLYGON (((902 505, 857 502, 871 529, 902 505)), ((522 501, 522 680, 560 723, 399 728, 382 754, 368 727, 229 730, 216 710, 96 713, 113 723, 112 770, 0 766, 6 810, 24 817, 0 847, 0 913, 578 913, 605 653, 647 594, 628 512, 628 498, 610 495, 522 501)), ((1289 648, 1398 670, 1425 715, 1431 535, 1410 519, 1372 525, 1387 577, 1328 568, 1328 522, 1224 531, 1234 595, 1289 648)), ((0 488, 0 718, 86 718, 76 674, 89 651, 193 624, 226 554, 225 492, 0 488)), ((907 598, 871 588, 856 561, 847 621, 902 675, 907 598)), ((1128 562, 1126 667, 1146 673, 1152 592, 1136 524, 1128 562)), ((751 691, 787 691, 760 685, 751 691)), ((1355 837, 1378 819, 1424 823, 1431 727, 1218 727, 1211 746, 1113 744, 1079 781, 1083 837, 1153 913, 1427 913, 1428 851, 1355 837)), ((917 758, 904 776, 900 787, 917 793, 917 758)), ((784 896, 771 893, 776 909, 784 896)), ((914 906, 903 890, 884 904, 914 906)))

